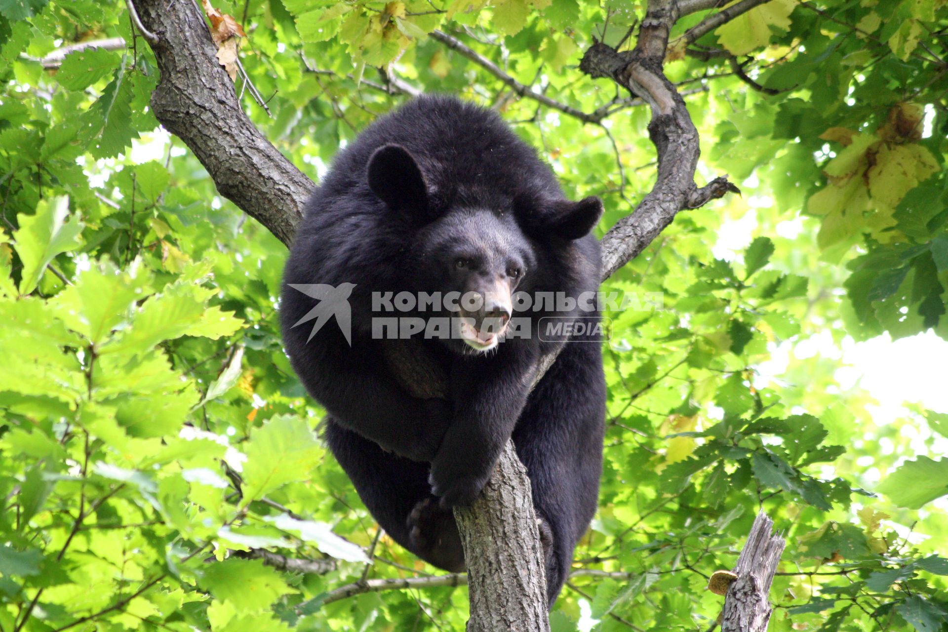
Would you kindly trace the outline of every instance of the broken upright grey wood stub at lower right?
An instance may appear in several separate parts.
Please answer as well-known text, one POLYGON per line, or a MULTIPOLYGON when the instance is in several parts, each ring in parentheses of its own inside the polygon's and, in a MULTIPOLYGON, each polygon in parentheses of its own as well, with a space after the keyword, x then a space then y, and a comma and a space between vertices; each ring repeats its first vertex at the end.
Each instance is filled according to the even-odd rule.
POLYGON ((786 542, 773 533, 774 521, 761 512, 738 557, 738 578, 727 589, 721 632, 764 632, 770 622, 768 595, 786 542))

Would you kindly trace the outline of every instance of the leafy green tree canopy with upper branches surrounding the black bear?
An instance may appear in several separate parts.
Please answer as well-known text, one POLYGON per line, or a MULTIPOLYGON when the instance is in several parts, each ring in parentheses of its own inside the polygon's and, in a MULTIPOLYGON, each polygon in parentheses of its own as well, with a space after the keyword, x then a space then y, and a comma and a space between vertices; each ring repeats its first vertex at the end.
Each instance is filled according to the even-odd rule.
MULTIPOLYGON (((926 507, 921 544, 899 509, 948 493, 946 461, 899 435, 921 425, 935 441, 943 415, 872 424, 867 393, 830 392, 837 362, 796 362, 788 385, 755 368, 821 333, 948 337, 948 11, 716 5, 0 2, 0 346, 22 359, 0 388, 0 625, 464 622, 465 578, 412 576, 363 524, 274 317, 274 237, 291 238, 321 165, 438 88, 498 107, 568 188, 606 197, 605 287, 638 302, 611 315, 602 505, 552 627, 573 629, 579 605, 604 630, 713 621, 703 583, 733 566, 757 507, 791 530, 796 563, 778 573, 772 629, 943 627, 943 513, 926 507), (649 118, 654 148, 637 132, 649 118), (157 121, 191 153, 171 140, 145 155, 157 121), (656 152, 657 170, 632 168, 656 152), (696 165, 711 174, 700 189, 696 165), (735 196, 663 232, 733 188, 716 171, 758 222, 733 257, 709 242, 720 208, 746 210, 735 196), (804 229, 780 236, 799 209, 804 229), (656 295, 674 311, 649 309, 656 295), (903 456, 918 458, 867 500, 865 461, 903 456), (409 592, 379 596, 396 588, 409 592)), ((524 497, 522 476, 505 480, 524 497)), ((485 559, 536 563, 531 538, 488 551, 468 531, 485 559)), ((489 621, 477 599, 472 613, 474 629, 489 621)))

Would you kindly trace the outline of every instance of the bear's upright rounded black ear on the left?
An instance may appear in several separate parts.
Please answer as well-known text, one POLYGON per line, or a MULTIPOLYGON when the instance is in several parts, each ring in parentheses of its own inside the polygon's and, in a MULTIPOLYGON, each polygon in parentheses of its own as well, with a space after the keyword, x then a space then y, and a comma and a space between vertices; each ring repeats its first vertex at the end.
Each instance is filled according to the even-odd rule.
POLYGON ((414 157, 401 145, 379 147, 369 158, 369 188, 392 210, 428 214, 428 186, 414 157))

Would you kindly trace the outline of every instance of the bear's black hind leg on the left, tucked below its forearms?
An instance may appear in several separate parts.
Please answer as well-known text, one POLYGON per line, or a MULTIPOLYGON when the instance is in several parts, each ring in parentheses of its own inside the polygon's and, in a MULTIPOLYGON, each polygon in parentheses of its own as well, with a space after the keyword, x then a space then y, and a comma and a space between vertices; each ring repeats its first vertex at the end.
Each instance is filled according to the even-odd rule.
POLYGON ((440 569, 465 569, 454 515, 431 496, 428 463, 386 452, 331 417, 323 436, 362 502, 395 542, 440 569))

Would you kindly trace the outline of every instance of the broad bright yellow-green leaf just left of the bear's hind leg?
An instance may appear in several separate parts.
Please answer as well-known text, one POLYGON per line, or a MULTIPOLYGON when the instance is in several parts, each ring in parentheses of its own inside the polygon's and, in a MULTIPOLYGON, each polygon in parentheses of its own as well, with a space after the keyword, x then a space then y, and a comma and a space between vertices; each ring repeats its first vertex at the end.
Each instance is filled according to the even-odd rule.
POLYGON ((315 433, 293 415, 271 418, 251 435, 245 452, 245 504, 288 482, 309 479, 323 454, 315 433))

